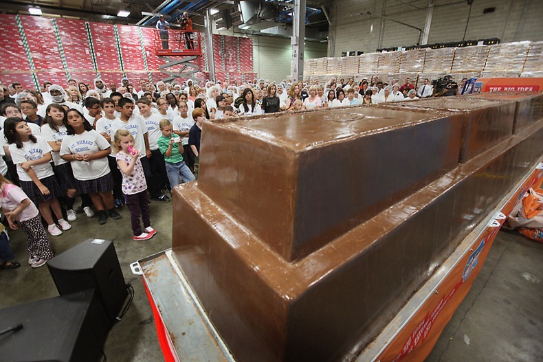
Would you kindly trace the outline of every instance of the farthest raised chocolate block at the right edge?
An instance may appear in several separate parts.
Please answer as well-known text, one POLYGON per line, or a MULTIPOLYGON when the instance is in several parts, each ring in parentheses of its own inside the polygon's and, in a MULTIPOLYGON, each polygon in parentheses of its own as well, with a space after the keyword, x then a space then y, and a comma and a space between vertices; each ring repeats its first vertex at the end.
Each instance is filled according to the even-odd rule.
POLYGON ((524 127, 537 122, 543 117, 543 94, 538 93, 511 93, 491 92, 464 95, 463 97, 476 98, 478 100, 500 100, 503 102, 515 102, 515 123, 513 133, 520 132, 524 127))

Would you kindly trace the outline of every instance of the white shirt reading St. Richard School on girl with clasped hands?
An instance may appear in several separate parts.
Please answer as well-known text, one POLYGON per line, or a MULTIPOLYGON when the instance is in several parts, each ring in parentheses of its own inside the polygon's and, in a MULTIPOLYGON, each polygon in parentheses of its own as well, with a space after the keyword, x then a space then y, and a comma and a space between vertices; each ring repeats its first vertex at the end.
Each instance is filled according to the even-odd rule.
MULTIPOLYGON (((85 131, 80 135, 66 135, 60 146, 60 156, 75 155, 76 153, 93 154, 111 147, 109 142, 95 130, 85 131)), ((71 161, 74 178, 79 181, 99 179, 109 174, 107 157, 92 161, 71 161)))

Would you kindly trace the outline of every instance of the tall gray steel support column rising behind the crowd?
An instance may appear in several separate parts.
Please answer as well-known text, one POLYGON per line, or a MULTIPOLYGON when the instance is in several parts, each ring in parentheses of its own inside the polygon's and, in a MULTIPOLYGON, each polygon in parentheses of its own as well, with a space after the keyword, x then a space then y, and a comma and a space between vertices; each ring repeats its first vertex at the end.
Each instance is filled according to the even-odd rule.
POLYGON ((305 4, 306 0, 294 0, 292 10, 291 73, 294 80, 303 80, 304 78, 305 4))

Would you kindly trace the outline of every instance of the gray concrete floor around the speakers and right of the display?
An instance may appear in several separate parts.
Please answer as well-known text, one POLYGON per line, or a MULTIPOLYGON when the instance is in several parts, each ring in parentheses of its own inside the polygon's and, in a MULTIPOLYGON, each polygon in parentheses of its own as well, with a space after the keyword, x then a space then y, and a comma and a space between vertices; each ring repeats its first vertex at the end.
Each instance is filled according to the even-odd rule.
MULTIPOLYGON (((133 304, 107 339, 108 361, 163 361, 151 308, 142 280, 129 264, 171 245, 172 203, 151 201, 151 222, 158 234, 148 241, 131 239, 129 213, 122 219, 78 214, 73 227, 52 237, 55 252, 61 253, 87 238, 113 240, 124 279, 135 291, 133 304)), ((26 264, 26 242, 21 231, 12 231, 11 247, 22 266, 0 271, 0 308, 34 302, 58 295, 47 267, 32 269, 26 264)), ((428 362, 456 361, 543 361, 543 244, 514 232, 500 231, 472 290, 456 310, 428 362)))

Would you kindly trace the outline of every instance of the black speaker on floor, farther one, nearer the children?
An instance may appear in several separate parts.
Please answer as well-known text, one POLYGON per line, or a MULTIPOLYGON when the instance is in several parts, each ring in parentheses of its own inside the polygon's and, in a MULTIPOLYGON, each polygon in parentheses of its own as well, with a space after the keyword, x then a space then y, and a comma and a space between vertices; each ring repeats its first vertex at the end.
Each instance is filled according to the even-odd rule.
POLYGON ((111 324, 128 296, 113 242, 88 239, 47 262, 60 295, 96 289, 111 324))

